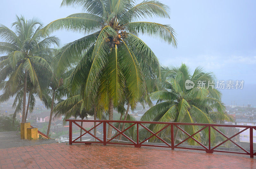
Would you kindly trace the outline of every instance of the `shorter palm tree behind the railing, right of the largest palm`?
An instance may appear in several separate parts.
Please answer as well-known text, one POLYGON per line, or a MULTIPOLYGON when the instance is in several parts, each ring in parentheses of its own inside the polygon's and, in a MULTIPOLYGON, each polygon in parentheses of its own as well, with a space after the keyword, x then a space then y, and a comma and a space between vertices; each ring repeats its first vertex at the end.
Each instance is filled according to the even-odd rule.
MULTIPOLYGON (((158 100, 141 118, 143 121, 171 121, 187 123, 213 123, 216 121, 232 121, 221 102, 221 93, 214 89, 215 76, 212 72, 204 72, 200 67, 191 74, 189 68, 182 64, 180 67, 162 67, 162 84, 165 90, 153 92, 150 96, 158 100), (192 89, 186 89, 186 80, 194 84, 205 83, 192 89)), ((151 126, 159 131, 163 125, 151 126)), ((197 126, 185 126, 190 135, 198 131, 197 126)), ((208 132, 205 130, 205 132, 208 132)), ((214 133, 214 131, 212 132, 214 133)), ((178 128, 174 140, 178 135, 178 128)), ((200 135, 195 135, 200 139, 200 135)), ((214 137, 213 137, 214 138, 214 137)), ((192 139, 190 144, 194 144, 192 139)))

